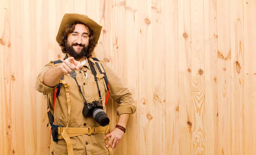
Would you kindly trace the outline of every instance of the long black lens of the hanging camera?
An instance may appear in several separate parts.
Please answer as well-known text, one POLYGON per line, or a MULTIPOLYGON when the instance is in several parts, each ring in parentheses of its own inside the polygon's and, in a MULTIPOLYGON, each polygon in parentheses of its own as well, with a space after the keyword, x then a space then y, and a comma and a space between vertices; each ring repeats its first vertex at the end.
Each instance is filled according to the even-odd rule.
POLYGON ((104 110, 95 108, 93 110, 93 118, 102 126, 105 127, 109 124, 109 118, 104 110))

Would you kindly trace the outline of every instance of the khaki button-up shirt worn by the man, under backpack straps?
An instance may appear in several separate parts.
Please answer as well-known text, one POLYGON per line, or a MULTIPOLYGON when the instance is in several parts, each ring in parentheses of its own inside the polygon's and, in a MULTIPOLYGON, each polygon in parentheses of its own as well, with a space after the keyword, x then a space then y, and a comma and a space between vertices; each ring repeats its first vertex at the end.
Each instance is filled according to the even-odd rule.
MULTIPOLYGON (((63 60, 62 60, 63 61, 63 60)), ((108 84, 110 87, 110 96, 114 101, 120 104, 117 108, 117 114, 133 114, 136 111, 136 107, 134 106, 134 100, 132 99, 131 93, 128 88, 122 83, 122 81, 116 76, 111 68, 109 68, 104 62, 100 62, 107 74, 108 84)), ((54 68, 55 65, 53 62, 49 62, 41 72, 37 76, 36 80, 36 90, 43 93, 44 95, 48 94, 48 105, 52 114, 55 118, 55 124, 62 125, 66 127, 68 122, 68 107, 67 107, 67 98, 65 87, 62 85, 61 93, 56 97, 55 101, 55 110, 53 110, 53 98, 54 98, 54 90, 57 87, 48 87, 44 85, 44 74, 47 70, 54 68)), ((94 65, 95 69, 96 66, 94 65)), ((90 65, 88 60, 86 59, 86 63, 82 68, 84 71, 86 70, 87 79, 84 74, 84 71, 75 70, 76 71, 76 80, 78 84, 81 86, 82 93, 86 99, 86 101, 92 102, 93 100, 99 101, 99 93, 96 82, 94 80, 94 76, 91 73, 90 65)), ((99 71, 97 71, 97 76, 99 75, 99 71)), ((99 127, 100 125, 94 120, 92 116, 84 117, 82 114, 84 100, 79 92, 79 88, 76 84, 75 79, 70 77, 70 74, 64 75, 64 81, 70 84, 70 121, 68 127, 99 127)), ((98 81, 99 89, 102 96, 103 110, 106 112, 105 108, 105 98, 108 93, 107 87, 105 85, 104 79, 101 78, 98 81)), ((108 149, 105 147, 105 135, 104 134, 95 134, 95 135, 79 135, 75 137, 71 137, 70 140, 72 142, 73 151, 75 155, 108 155, 108 149)), ((67 145, 64 139, 55 142, 54 145, 54 154, 55 155, 67 155, 67 145)))

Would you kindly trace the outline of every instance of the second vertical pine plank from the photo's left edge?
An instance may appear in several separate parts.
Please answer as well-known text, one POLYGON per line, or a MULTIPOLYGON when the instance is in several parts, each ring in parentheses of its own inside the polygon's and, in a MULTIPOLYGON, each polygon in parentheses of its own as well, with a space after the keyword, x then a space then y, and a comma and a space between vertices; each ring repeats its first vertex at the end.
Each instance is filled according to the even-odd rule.
MULTIPOLYGON (((23 3, 21 0, 10 1, 11 3, 11 55, 10 67, 12 68, 12 148, 9 150, 12 155, 25 154, 25 97, 24 97, 24 73, 23 73, 23 3)), ((8 60, 8 59, 6 59, 8 60)), ((10 154, 10 155, 11 155, 10 154)))

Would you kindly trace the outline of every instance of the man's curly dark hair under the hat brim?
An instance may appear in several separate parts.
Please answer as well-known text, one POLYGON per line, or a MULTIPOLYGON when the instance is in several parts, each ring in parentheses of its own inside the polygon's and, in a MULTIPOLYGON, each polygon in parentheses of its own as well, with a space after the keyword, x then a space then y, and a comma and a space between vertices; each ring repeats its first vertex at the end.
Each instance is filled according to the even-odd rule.
POLYGON ((93 55, 94 48, 96 47, 97 42, 94 39, 93 30, 90 29, 87 25, 85 25, 84 23, 81 23, 81 22, 75 22, 75 23, 66 25, 66 30, 61 34, 61 44, 59 44, 61 46, 61 51, 64 54, 67 53, 66 52, 66 45, 65 45, 65 41, 67 43, 67 39, 65 37, 68 36, 68 34, 70 34, 74 31, 76 24, 83 24, 86 28, 88 28, 89 44, 88 44, 88 48, 87 48, 87 54, 89 54, 89 55, 87 56, 87 58, 90 58, 93 55))

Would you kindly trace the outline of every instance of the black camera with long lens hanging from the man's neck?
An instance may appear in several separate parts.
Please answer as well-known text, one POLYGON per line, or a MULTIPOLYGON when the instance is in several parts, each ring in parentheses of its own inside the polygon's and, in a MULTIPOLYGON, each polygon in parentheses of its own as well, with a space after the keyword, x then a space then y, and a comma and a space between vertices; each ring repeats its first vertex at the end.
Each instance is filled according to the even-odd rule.
POLYGON ((102 126, 105 127, 109 124, 109 118, 103 106, 99 101, 92 101, 90 103, 85 103, 83 108, 83 115, 88 116, 89 113, 93 115, 93 118, 102 126))

